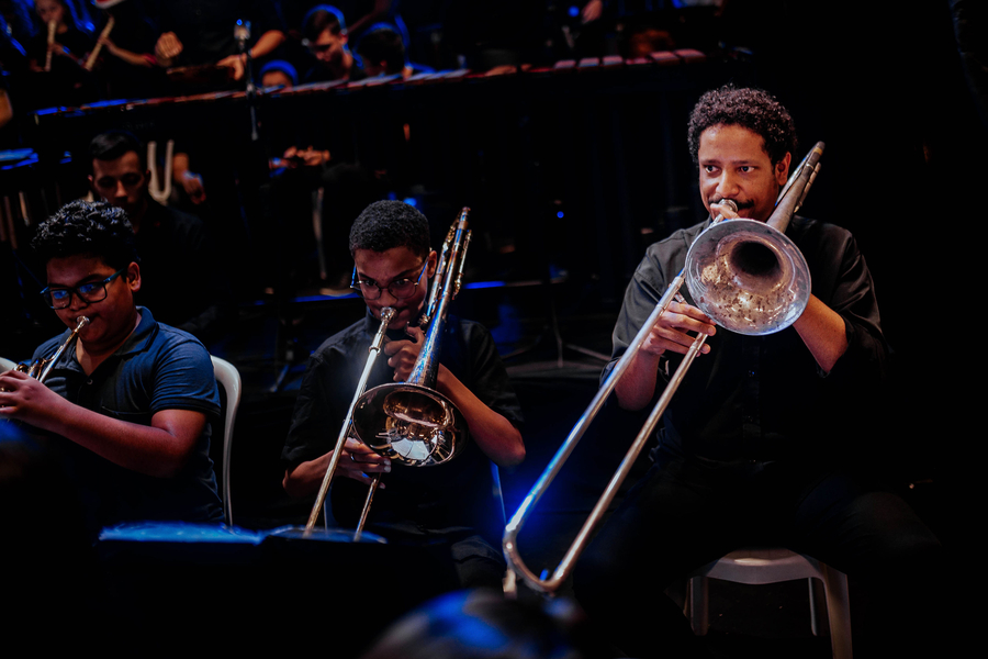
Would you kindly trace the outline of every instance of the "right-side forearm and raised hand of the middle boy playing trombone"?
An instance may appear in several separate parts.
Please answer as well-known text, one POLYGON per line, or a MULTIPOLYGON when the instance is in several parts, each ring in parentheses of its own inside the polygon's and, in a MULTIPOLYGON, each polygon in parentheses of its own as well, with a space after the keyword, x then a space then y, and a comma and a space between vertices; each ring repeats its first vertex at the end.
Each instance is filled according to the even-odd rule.
MULTIPOLYGON (((404 381, 412 372, 423 343, 423 331, 408 327, 412 340, 394 340, 384 346, 390 356, 388 365, 394 368, 395 381, 404 381)), ((447 396, 463 414, 470 435, 484 455, 501 467, 513 467, 525 459, 525 442, 512 422, 498 414, 441 364, 436 377, 436 390, 447 396)))

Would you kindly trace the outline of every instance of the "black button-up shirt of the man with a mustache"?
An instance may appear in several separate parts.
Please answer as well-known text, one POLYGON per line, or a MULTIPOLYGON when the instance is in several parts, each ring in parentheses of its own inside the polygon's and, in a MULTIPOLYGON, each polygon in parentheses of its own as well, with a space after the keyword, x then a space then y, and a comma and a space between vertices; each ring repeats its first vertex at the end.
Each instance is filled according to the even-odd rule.
MULTIPOLYGON (((609 373, 624 355, 709 221, 650 246, 625 293, 614 330, 609 373)), ((718 461, 813 456, 845 436, 875 394, 888 347, 872 276, 852 235, 832 224, 794 217, 786 235, 802 252, 812 293, 844 320, 847 350, 823 373, 796 330, 745 336, 718 327, 683 379, 663 422, 662 447, 718 461)), ((693 304, 686 287, 681 290, 693 304)), ((669 355, 669 353, 667 353, 669 355)), ((656 399, 682 357, 660 368, 656 399)))

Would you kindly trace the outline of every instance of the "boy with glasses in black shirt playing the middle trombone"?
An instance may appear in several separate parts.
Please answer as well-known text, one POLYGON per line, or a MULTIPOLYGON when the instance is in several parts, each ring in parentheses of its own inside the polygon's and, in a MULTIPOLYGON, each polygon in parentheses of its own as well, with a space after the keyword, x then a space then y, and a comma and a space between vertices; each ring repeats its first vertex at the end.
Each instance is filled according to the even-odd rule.
MULTIPOLYGON (((367 315, 328 338, 310 359, 282 453, 284 489, 293 496, 313 496, 319 490, 381 310, 391 306, 395 315, 368 389, 407 379, 422 348, 417 324, 437 266, 425 215, 400 201, 372 203, 353 223, 350 253, 356 261, 353 287, 364 298, 367 315)), ((509 467, 525 458, 518 400, 490 333, 478 323, 450 316, 439 361, 435 389, 469 425, 470 440, 462 453, 428 469, 392 470, 388 458, 349 439, 333 485, 333 512, 344 526, 355 527, 369 477, 383 473, 368 528, 396 540, 444 541, 463 587, 499 590, 503 523, 492 495, 491 460, 509 467)))

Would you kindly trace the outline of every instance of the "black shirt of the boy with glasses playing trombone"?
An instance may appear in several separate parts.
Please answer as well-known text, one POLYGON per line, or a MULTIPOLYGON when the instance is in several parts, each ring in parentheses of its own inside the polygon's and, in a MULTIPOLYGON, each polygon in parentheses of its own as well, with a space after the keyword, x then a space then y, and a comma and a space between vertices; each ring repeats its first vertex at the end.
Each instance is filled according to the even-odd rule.
MULTIPOLYGON (((295 403, 282 459, 288 465, 314 460, 333 450, 367 362, 380 322, 370 313, 327 339, 313 353, 295 403)), ((407 338, 403 331, 389 338, 407 338)), ((382 353, 383 357, 383 353, 382 353)), ((515 425, 521 423, 518 399, 490 333, 479 323, 450 316, 440 362, 485 405, 515 425)), ((393 381, 394 369, 379 357, 368 389, 393 381)), ((501 543, 501 511, 492 496, 491 461, 472 440, 450 461, 435 467, 392 462, 386 488, 374 494, 371 522, 412 522, 424 529, 471 527, 501 543)), ((367 487, 340 478, 333 485, 333 511, 345 526, 356 526, 367 487)))

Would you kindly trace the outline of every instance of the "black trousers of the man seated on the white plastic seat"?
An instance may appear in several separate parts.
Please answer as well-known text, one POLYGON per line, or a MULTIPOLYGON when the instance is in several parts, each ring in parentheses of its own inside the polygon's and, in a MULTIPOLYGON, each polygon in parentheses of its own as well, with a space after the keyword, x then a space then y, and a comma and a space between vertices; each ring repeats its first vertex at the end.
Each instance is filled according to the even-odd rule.
MULTIPOLYGON (((896 656, 935 647, 943 604, 936 537, 899 496, 810 462, 656 462, 582 557, 576 596, 629 656, 703 656, 663 591, 745 545, 808 554, 866 583, 876 654, 892 656, 889 644, 901 646, 896 656)), ((865 655, 855 645, 855 656, 865 655)))

